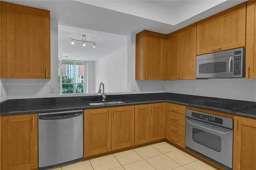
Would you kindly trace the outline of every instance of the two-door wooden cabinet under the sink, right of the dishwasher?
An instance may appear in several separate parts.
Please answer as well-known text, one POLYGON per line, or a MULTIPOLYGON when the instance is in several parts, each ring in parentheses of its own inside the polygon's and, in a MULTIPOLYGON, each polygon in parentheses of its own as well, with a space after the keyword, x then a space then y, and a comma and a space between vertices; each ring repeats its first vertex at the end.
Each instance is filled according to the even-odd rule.
POLYGON ((84 156, 134 145, 134 106, 84 110, 84 156))

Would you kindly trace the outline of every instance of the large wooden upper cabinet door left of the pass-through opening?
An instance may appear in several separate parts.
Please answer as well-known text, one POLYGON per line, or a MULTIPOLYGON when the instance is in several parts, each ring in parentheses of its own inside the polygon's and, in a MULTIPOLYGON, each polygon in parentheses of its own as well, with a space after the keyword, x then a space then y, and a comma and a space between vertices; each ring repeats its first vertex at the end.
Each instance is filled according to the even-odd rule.
POLYGON ((50 12, 6 3, 7 77, 50 79, 50 12))

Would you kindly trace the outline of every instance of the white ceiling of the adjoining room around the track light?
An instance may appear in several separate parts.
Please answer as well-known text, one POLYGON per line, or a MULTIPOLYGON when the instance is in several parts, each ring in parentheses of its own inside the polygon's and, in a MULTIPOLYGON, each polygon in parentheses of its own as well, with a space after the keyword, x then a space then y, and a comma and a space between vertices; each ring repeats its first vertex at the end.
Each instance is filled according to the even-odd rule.
POLYGON ((96 61, 124 47, 127 47, 127 36, 58 25, 58 51, 62 56, 69 56, 68 59, 96 61), (96 48, 92 43, 86 43, 85 47, 78 41, 71 44, 70 38, 82 40, 82 35, 86 35, 86 41, 95 42, 96 48))

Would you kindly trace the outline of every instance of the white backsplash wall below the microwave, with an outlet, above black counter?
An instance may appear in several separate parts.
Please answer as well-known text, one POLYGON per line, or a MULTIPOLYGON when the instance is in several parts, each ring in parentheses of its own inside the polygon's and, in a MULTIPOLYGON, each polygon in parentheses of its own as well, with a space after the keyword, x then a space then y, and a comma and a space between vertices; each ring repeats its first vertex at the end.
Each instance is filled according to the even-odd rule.
POLYGON ((175 80, 166 81, 166 86, 170 93, 256 101, 255 79, 175 80))

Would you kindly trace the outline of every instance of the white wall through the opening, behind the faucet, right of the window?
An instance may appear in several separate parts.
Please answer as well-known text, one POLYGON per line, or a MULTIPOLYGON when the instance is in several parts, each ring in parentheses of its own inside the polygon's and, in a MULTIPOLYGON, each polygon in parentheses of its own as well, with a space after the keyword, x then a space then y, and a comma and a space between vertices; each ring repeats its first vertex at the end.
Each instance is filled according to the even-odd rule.
POLYGON ((107 93, 127 92, 127 47, 95 61, 94 70, 95 92, 100 82, 107 93))

